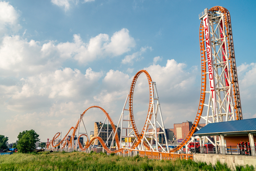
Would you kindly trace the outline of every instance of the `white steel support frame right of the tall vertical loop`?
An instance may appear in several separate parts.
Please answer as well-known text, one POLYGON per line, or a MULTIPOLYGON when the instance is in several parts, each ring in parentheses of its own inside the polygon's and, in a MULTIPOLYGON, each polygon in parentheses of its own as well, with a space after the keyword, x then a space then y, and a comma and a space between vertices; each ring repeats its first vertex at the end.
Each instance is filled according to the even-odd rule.
POLYGON ((161 111, 159 97, 157 93, 156 82, 151 82, 151 85, 154 90, 154 93, 152 95, 152 104, 150 108, 150 115, 152 115, 152 117, 147 118, 146 127, 152 127, 153 131, 144 133, 143 138, 141 140, 140 150, 145 150, 143 145, 143 143, 145 142, 148 146, 150 146, 150 151, 159 152, 159 149, 158 149, 158 146, 159 146, 160 151, 166 152, 166 149, 167 149, 167 152, 169 152, 168 141, 165 133, 165 127, 163 123, 162 111, 161 111), (158 121, 158 119, 160 119, 160 121, 158 121), (160 131, 157 132, 157 127, 160 127, 162 129, 162 132, 160 131), (166 149, 159 143, 159 140, 158 140, 159 134, 164 134, 166 149), (147 140, 147 137, 151 138, 151 142, 147 140), (153 140, 155 140, 156 149, 153 148, 153 140))

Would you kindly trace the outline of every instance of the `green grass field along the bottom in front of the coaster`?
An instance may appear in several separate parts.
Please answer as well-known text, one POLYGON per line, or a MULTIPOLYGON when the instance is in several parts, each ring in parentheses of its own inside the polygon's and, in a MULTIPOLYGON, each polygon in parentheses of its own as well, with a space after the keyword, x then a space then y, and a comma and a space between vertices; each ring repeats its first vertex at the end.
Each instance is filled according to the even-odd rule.
MULTIPOLYGON (((150 160, 119 157, 104 153, 41 152, 0 156, 0 170, 230 170, 227 165, 215 166, 191 160, 150 160)), ((254 170, 252 166, 237 166, 237 170, 254 170)))

